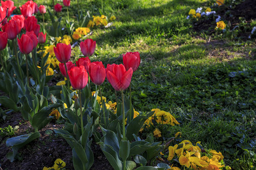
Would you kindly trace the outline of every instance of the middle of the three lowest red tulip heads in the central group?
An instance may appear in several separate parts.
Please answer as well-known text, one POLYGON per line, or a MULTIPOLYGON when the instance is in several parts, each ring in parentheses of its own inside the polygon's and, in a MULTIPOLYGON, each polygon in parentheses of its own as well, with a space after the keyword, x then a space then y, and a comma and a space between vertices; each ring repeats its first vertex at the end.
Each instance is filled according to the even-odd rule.
POLYGON ((89 75, 92 82, 100 86, 106 78, 106 71, 102 62, 96 61, 90 63, 89 75))

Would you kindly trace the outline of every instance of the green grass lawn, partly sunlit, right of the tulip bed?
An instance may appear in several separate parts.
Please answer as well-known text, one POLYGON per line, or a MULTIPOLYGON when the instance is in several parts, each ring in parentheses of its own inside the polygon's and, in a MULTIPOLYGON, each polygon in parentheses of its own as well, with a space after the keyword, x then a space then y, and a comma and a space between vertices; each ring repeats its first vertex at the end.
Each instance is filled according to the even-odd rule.
MULTIPOLYGON (((142 62, 131 83, 135 110, 171 112, 181 124, 169 128, 170 137, 182 133, 175 142, 201 141, 204 147, 221 151, 226 164, 248 169, 255 166, 255 39, 213 35, 208 42, 209 35, 194 32, 185 18, 191 8, 206 2, 104 1, 102 14, 117 20, 113 27, 92 29, 89 38, 97 47, 91 60, 119 64, 122 54, 138 51, 142 62)), ((51 3, 47 1, 48 8, 51 3)), ((84 14, 102 12, 99 0, 82 3, 84 14)), ((70 16, 76 14, 76 1, 70 11, 70 16)), ((73 58, 79 55, 76 47, 73 58)), ((111 85, 105 82, 103 87, 104 96, 114 101, 111 85)))

